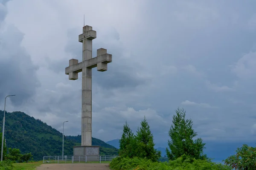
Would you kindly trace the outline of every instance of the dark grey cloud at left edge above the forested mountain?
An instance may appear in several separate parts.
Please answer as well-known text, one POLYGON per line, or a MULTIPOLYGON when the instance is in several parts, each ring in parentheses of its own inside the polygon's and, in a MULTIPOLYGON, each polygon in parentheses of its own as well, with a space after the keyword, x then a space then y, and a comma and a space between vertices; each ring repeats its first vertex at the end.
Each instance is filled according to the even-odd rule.
MULTIPOLYGON (((7 13, 4 6, 6 2, 0 3, 1 17, 7 13)), ((3 26, 4 18, 0 19, 2 19, 0 24, 3 26)), ((5 26, 6 29, 0 28, 0 72, 2 73, 0 102, 5 96, 15 94, 11 101, 14 105, 21 105, 35 95, 36 88, 40 85, 36 77, 38 67, 33 65, 29 54, 20 45, 24 34, 13 25, 5 24, 5 26)))

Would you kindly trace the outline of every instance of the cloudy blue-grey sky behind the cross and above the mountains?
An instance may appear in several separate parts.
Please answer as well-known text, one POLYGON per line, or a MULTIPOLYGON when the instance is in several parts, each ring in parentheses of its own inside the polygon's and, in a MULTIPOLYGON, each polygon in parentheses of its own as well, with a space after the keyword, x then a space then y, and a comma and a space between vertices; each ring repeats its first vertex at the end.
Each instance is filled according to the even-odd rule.
MULTIPOLYGON (((256 2, 225 0, 0 0, 0 105, 65 134, 81 133, 78 35, 97 31, 108 71, 93 69, 93 137, 136 131, 143 116, 166 146, 178 107, 208 143, 256 140, 256 2)), ((3 109, 1 109, 3 110, 3 109)))

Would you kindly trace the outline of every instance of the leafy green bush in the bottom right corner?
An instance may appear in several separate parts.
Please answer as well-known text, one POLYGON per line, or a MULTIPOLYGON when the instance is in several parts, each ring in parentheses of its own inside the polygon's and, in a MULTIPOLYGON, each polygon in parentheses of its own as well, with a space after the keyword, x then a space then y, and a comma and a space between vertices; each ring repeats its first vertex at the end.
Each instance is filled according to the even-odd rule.
POLYGON ((241 148, 237 148, 235 155, 223 161, 236 170, 256 170, 256 147, 243 144, 241 148))

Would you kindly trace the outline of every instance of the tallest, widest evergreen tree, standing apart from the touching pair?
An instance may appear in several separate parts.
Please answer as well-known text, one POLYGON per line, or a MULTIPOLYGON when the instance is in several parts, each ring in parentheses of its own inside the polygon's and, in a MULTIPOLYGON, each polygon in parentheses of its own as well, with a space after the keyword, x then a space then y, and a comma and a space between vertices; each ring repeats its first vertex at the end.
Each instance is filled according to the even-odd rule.
POLYGON ((188 155, 195 159, 207 159, 203 153, 205 148, 201 138, 193 140, 197 133, 192 129, 191 119, 185 119, 186 111, 177 109, 173 116, 172 125, 169 130, 171 140, 168 140, 166 154, 170 160, 175 160, 182 155, 188 155))

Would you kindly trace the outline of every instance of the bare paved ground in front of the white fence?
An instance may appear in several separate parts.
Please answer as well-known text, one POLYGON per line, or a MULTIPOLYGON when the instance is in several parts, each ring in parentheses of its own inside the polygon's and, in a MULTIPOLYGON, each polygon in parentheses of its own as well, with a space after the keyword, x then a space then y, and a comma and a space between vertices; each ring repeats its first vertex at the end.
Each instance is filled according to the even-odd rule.
POLYGON ((42 164, 37 170, 110 170, 109 164, 42 164))

